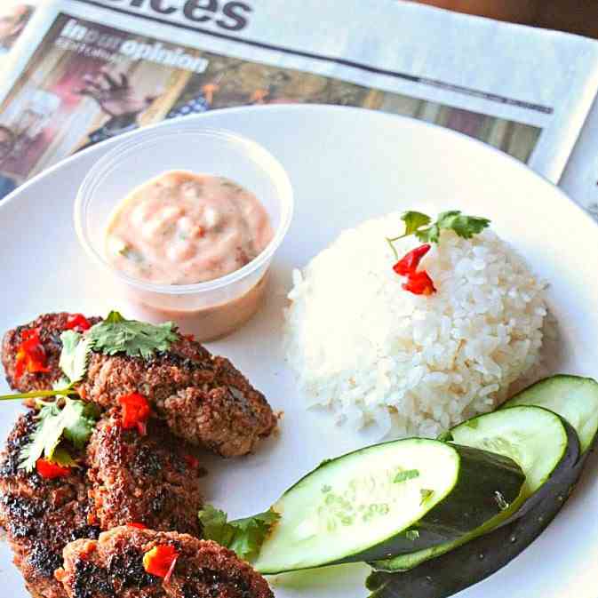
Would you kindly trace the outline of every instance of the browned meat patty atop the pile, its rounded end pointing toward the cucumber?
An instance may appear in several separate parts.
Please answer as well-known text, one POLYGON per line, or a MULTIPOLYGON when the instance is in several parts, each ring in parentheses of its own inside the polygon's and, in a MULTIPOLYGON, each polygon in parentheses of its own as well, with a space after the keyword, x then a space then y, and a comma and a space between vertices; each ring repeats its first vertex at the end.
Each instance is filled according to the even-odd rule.
POLYGON ((92 353, 79 392, 105 408, 145 395, 175 435, 223 457, 251 452, 276 426, 264 395, 232 363, 185 338, 150 359, 92 353))

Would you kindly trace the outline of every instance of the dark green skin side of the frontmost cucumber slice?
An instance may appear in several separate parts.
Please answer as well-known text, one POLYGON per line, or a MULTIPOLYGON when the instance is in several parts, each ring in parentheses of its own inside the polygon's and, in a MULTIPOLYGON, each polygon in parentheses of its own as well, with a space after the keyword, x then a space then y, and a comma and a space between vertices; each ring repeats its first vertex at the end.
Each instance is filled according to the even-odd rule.
POLYGON ((379 545, 371 546, 358 554, 350 554, 343 559, 328 562, 326 565, 346 562, 367 562, 387 558, 388 554, 411 553, 460 538, 501 512, 494 491, 498 490, 506 502, 513 502, 522 490, 525 474, 511 458, 497 455, 487 450, 472 449, 468 446, 451 444, 460 457, 459 477, 450 494, 441 500, 410 528, 394 538, 387 538, 379 545), (487 467, 489 464, 492 465, 487 467), (502 469, 497 468, 497 466, 502 469), (481 474, 485 474, 483 477, 481 474), (498 477, 497 474, 500 474, 498 477), (472 480, 475 482, 472 484, 472 480), (487 484, 493 490, 481 503, 480 491, 473 486, 487 484), (474 506, 474 508, 472 508, 474 506), (410 530, 417 530, 419 537, 411 539, 410 530))

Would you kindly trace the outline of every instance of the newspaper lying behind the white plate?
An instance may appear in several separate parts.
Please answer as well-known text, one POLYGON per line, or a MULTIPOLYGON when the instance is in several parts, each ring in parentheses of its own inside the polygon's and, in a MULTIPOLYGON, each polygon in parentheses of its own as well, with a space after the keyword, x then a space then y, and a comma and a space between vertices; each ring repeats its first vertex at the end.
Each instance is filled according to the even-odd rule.
POLYGON ((390 0, 0 0, 0 197, 163 119, 309 102, 412 116, 598 216, 598 43, 390 0))

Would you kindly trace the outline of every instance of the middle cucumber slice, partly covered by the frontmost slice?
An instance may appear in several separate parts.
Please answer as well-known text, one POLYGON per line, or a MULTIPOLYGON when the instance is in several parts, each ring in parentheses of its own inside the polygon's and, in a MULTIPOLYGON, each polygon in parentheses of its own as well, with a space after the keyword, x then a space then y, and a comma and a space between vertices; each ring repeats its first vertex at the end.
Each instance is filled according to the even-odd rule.
POLYGON ((452 428, 447 440, 476 449, 490 450, 512 458, 522 467, 526 482, 522 493, 504 512, 495 515, 465 536, 426 550, 400 554, 372 562, 374 569, 405 571, 448 553, 482 534, 496 529, 515 514, 522 516, 544 497, 538 490, 560 466, 572 466, 578 458, 575 431, 558 415, 540 407, 513 407, 469 419, 452 428), (525 503, 524 506, 523 503, 525 503))

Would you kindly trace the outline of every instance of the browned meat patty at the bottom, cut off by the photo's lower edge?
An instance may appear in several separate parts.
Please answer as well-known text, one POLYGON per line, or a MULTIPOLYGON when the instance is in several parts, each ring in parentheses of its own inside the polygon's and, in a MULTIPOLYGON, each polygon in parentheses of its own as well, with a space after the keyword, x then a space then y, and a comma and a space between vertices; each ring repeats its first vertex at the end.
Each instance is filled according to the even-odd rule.
POLYGON ((69 598, 274 597, 266 579, 215 542, 130 527, 69 544, 56 578, 69 598), (155 546, 173 546, 179 554, 168 582, 143 567, 143 555, 155 546))

